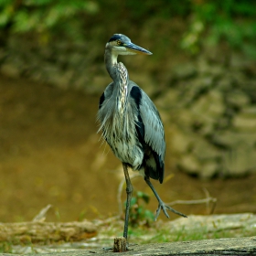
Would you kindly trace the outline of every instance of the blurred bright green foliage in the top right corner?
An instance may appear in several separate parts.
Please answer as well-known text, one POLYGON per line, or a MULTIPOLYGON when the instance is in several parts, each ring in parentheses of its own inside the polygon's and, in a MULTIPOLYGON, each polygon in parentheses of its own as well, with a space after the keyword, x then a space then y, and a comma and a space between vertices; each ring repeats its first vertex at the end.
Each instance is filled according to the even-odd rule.
POLYGON ((256 2, 250 0, 192 1, 191 23, 182 47, 197 53, 201 43, 226 43, 256 59, 256 2), (206 33, 203 33, 206 32, 206 33))

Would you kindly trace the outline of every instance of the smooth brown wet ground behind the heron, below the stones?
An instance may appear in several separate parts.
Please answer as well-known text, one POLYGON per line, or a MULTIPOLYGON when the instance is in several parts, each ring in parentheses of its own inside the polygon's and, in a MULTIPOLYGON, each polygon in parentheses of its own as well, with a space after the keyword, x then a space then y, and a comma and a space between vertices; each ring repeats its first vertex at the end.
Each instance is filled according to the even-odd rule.
MULTIPOLYGON (((0 222, 31 220, 48 204, 48 220, 117 214, 123 171, 97 134, 99 97, 0 76, 0 222)), ((218 199, 215 213, 256 212, 256 175, 200 180, 174 168, 168 145, 165 158, 165 176, 171 178, 154 182, 165 202, 201 199, 206 188, 218 199)), ((133 179, 133 187, 151 196, 148 208, 155 210, 142 177, 133 179)), ((208 213, 205 205, 176 209, 208 213)))

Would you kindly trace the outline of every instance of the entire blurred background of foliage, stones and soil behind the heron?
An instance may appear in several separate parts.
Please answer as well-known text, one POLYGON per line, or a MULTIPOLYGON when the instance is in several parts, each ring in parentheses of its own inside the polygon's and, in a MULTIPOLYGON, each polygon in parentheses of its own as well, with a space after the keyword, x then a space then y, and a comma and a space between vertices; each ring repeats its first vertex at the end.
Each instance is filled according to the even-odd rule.
POLYGON ((217 213, 255 212, 255 17, 253 0, 0 0, 0 221, 48 203, 52 219, 118 211, 122 166, 95 121, 114 33, 153 52, 120 59, 165 123, 159 194, 198 199, 205 187, 217 213))

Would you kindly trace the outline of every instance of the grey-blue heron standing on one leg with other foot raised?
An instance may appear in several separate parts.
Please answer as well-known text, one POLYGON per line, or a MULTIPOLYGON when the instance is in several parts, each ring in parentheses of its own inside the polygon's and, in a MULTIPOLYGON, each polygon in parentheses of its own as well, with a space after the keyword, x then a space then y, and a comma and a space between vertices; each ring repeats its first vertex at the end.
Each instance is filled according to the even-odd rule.
POLYGON ((112 148, 113 154, 123 163, 126 181, 126 209, 123 237, 127 240, 129 210, 133 186, 128 167, 139 171, 144 181, 152 189, 158 200, 155 220, 161 209, 169 218, 167 209, 187 217, 176 209, 167 206, 158 196, 150 178, 163 183, 165 171, 165 131, 155 104, 147 94, 132 80, 118 55, 152 53, 134 45, 129 37, 114 34, 105 47, 105 65, 112 78, 101 95, 97 118, 102 137, 112 148))

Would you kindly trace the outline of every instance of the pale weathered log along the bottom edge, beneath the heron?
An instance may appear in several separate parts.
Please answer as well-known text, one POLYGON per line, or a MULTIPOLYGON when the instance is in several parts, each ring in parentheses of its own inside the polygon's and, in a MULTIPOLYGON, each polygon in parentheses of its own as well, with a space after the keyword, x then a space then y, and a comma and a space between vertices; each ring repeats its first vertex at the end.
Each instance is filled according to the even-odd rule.
MULTIPOLYGON (((12 254, 13 256, 22 254, 12 254)), ((98 250, 63 251, 38 253, 37 256, 253 256, 256 255, 256 237, 218 240, 177 241, 168 243, 131 245, 130 251, 112 252, 98 250)), ((0 253, 0 256, 10 254, 0 253)), ((24 256, 24 254, 23 254, 24 256)))

